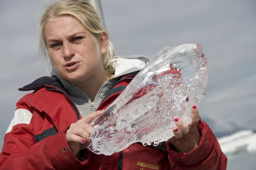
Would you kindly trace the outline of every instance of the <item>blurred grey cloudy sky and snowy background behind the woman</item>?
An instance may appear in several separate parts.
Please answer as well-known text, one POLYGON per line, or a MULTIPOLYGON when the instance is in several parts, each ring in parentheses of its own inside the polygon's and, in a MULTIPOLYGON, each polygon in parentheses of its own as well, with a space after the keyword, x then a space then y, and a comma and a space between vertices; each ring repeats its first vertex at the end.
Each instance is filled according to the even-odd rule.
MULTIPOLYGON (((52 0, 0 0, 0 149, 17 88, 49 75, 38 55, 38 22, 52 0)), ((210 71, 201 118, 228 157, 228 170, 256 169, 256 1, 102 0, 116 55, 152 59, 166 45, 199 43, 210 71)), ((50 68, 48 68, 50 71, 50 68)))

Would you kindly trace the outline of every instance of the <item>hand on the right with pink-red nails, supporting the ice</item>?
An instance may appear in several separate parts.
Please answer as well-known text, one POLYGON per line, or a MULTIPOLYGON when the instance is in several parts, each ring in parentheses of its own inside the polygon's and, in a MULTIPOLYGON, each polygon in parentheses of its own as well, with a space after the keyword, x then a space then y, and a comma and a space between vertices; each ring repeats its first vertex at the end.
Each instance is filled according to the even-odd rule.
POLYGON ((174 118, 175 127, 172 131, 175 136, 168 140, 179 152, 189 153, 195 147, 199 146, 201 140, 200 133, 196 126, 200 120, 198 108, 193 105, 192 111, 192 123, 185 125, 178 117, 174 118))

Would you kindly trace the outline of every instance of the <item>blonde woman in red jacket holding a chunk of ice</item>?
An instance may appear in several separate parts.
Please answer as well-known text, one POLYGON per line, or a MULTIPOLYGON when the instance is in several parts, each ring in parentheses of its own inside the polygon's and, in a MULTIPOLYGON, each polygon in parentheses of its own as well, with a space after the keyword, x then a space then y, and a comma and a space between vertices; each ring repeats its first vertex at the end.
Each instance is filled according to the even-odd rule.
POLYGON ((52 77, 19 89, 33 92, 17 102, 0 170, 226 169, 227 158, 196 106, 191 108, 192 124, 170 120, 177 125, 176 137, 157 147, 135 143, 111 156, 87 149, 93 130, 89 123, 104 114, 147 59, 117 58, 115 66, 108 34, 84 0, 61 0, 47 7, 40 45, 52 63, 52 77))

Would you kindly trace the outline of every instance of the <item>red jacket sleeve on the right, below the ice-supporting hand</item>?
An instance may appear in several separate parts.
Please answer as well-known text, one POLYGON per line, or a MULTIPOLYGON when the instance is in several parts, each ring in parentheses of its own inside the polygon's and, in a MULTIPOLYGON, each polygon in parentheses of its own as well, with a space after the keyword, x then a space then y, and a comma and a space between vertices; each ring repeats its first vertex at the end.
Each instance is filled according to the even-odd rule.
POLYGON ((176 152, 170 143, 166 142, 170 170, 226 170, 227 157, 209 126, 199 121, 198 130, 201 132, 199 146, 189 153, 176 152))

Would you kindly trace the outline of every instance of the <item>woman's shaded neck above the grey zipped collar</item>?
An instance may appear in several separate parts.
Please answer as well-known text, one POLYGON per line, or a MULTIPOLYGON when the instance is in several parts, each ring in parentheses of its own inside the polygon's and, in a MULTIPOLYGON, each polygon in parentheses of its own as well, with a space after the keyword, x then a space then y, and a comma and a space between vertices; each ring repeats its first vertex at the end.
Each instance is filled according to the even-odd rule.
POLYGON ((79 87, 82 91, 84 91, 84 93, 87 94, 89 99, 93 102, 102 84, 111 79, 113 76, 114 75, 112 74, 106 74, 104 71, 104 74, 94 74, 93 77, 90 77, 86 81, 76 82, 74 84, 77 87, 79 87))

